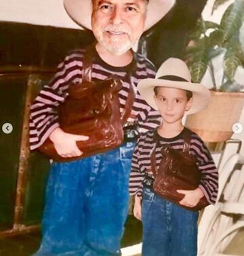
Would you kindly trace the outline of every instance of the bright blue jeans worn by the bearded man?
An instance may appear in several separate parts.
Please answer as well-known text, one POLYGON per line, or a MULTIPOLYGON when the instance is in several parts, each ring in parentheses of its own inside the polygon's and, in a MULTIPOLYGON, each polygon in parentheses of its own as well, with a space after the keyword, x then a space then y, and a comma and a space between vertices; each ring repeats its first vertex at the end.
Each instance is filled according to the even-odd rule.
POLYGON ((121 255, 134 145, 52 164, 36 256, 121 255))

